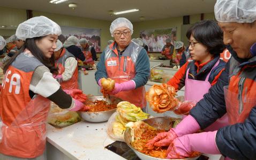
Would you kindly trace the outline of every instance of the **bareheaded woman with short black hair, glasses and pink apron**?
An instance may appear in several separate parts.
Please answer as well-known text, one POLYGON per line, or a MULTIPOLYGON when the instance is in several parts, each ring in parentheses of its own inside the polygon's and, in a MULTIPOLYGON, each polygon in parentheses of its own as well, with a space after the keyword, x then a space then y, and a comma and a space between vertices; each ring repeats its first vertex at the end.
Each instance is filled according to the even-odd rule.
MULTIPOLYGON (((185 86, 185 100, 198 102, 217 82, 225 67, 225 62, 220 60, 224 50, 223 35, 216 22, 205 20, 195 23, 186 36, 193 61, 186 62, 168 84, 176 90, 185 86)), ((227 116, 223 116, 206 130, 214 131, 227 123, 227 116)))

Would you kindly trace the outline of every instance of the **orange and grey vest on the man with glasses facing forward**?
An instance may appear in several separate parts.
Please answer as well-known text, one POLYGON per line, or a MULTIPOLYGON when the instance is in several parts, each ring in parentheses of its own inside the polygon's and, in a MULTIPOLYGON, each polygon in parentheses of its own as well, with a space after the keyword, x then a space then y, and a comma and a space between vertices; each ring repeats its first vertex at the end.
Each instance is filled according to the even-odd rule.
MULTIPOLYGON (((131 42, 125 49, 122 57, 119 57, 115 42, 109 45, 105 50, 105 67, 109 78, 114 79, 116 83, 130 81, 135 77, 135 63, 143 47, 131 42)), ((146 107, 145 87, 141 86, 131 91, 123 91, 115 94, 115 97, 124 101, 129 101, 135 106, 146 107)))

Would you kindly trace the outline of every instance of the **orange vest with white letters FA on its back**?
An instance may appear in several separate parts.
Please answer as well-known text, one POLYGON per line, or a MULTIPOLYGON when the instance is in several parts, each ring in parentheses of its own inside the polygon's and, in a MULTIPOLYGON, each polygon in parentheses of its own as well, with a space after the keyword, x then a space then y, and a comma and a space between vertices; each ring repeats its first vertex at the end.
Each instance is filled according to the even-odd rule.
POLYGON ((50 101, 41 95, 29 97, 34 69, 42 65, 35 57, 21 53, 5 73, 0 94, 2 154, 34 158, 44 152, 50 101))

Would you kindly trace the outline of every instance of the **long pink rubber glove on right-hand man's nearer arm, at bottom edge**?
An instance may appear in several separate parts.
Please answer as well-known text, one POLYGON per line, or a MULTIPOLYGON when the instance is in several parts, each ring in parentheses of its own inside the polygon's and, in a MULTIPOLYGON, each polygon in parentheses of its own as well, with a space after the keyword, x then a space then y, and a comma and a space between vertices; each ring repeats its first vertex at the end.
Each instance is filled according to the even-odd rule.
POLYGON ((183 135, 172 141, 167 149, 167 158, 190 157, 193 151, 206 154, 221 154, 216 146, 217 131, 183 135))

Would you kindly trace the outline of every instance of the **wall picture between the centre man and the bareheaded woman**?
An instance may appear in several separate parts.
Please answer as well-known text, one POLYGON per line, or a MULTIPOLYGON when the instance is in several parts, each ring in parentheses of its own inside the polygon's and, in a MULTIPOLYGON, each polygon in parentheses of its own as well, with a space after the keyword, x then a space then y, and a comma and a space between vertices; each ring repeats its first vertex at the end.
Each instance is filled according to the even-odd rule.
POLYGON ((170 38, 172 45, 176 43, 176 31, 177 27, 141 30, 140 38, 148 46, 149 52, 161 52, 166 39, 170 38))

